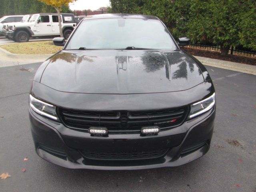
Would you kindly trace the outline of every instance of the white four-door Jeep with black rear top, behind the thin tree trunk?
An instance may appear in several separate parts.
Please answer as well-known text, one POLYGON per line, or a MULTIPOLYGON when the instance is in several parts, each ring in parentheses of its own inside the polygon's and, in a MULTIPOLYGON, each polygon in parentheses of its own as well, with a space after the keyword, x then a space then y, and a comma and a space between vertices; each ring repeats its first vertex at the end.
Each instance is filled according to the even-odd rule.
MULTIPOLYGON (((65 39, 68 39, 76 22, 74 14, 61 13, 62 32, 65 39)), ((34 14, 29 22, 9 25, 6 36, 16 42, 28 42, 30 38, 60 36, 58 14, 40 13, 34 14)))

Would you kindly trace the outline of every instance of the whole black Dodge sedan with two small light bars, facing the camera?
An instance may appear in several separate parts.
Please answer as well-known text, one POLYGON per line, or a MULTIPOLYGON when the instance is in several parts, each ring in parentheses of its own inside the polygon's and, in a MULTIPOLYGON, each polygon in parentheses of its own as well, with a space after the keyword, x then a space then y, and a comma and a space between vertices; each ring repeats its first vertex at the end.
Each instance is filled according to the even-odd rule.
POLYGON ((155 16, 84 18, 37 70, 29 96, 36 153, 66 168, 180 166, 210 148, 215 91, 206 68, 155 16))

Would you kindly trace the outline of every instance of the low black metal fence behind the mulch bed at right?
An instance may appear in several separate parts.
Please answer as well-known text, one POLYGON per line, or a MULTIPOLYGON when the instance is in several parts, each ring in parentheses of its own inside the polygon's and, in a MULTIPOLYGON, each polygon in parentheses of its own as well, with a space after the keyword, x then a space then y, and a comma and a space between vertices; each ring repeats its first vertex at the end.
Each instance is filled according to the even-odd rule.
MULTIPOLYGON (((203 48, 206 50, 217 50, 220 51, 220 46, 208 46, 208 45, 200 45, 200 44, 190 44, 189 47, 194 47, 194 48, 203 48)), ((237 54, 237 55, 244 55, 244 56, 250 56, 250 57, 256 57, 256 52, 250 52, 246 50, 238 50, 234 49, 234 47, 231 47, 229 49, 230 54, 237 54)))

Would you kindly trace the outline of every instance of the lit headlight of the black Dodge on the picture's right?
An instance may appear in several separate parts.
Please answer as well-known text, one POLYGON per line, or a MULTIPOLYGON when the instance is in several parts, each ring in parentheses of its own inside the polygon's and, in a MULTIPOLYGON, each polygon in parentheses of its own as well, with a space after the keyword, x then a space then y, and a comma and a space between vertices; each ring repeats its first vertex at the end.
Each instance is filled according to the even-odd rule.
POLYGON ((215 93, 212 94, 212 96, 192 104, 190 114, 188 118, 194 118, 200 114, 203 114, 204 112, 210 110, 215 104, 215 93))

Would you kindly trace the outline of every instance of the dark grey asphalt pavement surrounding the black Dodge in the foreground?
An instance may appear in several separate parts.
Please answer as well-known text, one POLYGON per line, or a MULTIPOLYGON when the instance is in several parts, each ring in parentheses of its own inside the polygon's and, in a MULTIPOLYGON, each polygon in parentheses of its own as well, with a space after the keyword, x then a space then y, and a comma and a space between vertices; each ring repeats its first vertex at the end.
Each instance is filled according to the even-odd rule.
POLYGON ((0 68, 0 174, 11 175, 0 180, 0 191, 256 192, 256 76, 206 66, 217 113, 211 148, 202 158, 152 170, 69 170, 34 152, 28 92, 38 66, 0 68))

